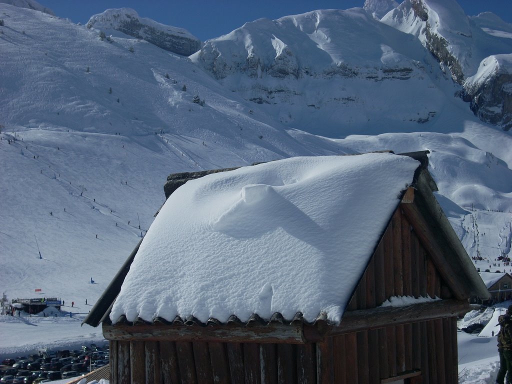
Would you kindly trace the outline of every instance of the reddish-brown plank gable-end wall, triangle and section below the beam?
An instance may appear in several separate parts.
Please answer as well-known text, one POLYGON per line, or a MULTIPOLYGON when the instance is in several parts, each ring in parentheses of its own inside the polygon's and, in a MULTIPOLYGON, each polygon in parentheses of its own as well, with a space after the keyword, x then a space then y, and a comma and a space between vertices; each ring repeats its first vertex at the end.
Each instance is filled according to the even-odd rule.
MULTIPOLYGON (((348 310, 375 308, 391 296, 406 295, 451 297, 449 288, 443 282, 428 251, 420 243, 411 223, 397 209, 355 290, 348 310)), ((457 382, 457 368, 453 363, 453 354, 457 351, 456 335, 452 335, 456 329, 453 322, 456 319, 357 332, 358 360, 351 361, 350 364, 362 363, 364 366, 368 358, 369 361, 378 360, 376 367, 371 367, 370 370, 376 372, 378 369, 380 378, 393 377, 411 369, 421 369, 426 373, 423 375, 423 383, 457 382), (426 349, 427 346, 429 349, 426 349), (360 352, 361 348, 368 349, 368 357, 366 351, 360 352), (376 359, 377 355, 381 358, 376 359), (433 360, 435 356, 437 360, 433 360), (451 361, 450 366, 445 367, 444 361, 451 361), (449 377, 442 377, 445 372, 449 377)), ((345 343, 347 342, 348 339, 345 339, 345 343)), ((364 383, 376 382, 372 378, 370 381, 366 377, 359 379, 359 382, 364 383)), ((340 379, 339 382, 345 381, 340 379)))

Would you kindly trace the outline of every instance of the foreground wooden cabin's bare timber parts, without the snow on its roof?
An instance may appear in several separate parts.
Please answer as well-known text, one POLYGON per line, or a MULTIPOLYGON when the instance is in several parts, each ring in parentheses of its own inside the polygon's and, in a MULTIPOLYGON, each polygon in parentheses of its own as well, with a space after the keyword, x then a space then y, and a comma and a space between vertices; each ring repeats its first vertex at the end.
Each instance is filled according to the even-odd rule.
MULTIPOLYGON (((488 292, 432 193, 426 153, 404 154, 418 166, 389 202, 391 214, 372 237, 339 322, 324 311, 306 319, 300 310, 292 318, 276 311, 241 320, 233 313, 224 322, 191 315, 112 319, 141 240, 84 321, 102 323, 110 340, 111 381, 457 383, 457 316, 469 310, 471 295, 488 292)), ((170 179, 184 183, 189 176, 170 179)))

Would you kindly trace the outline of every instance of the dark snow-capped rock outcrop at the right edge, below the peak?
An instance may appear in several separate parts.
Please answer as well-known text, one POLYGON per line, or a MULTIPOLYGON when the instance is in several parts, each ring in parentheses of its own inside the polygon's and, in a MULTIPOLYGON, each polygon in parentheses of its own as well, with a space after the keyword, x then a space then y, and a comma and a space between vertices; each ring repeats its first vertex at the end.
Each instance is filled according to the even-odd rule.
POLYGON ((487 57, 464 84, 465 100, 481 120, 512 128, 512 54, 487 57))

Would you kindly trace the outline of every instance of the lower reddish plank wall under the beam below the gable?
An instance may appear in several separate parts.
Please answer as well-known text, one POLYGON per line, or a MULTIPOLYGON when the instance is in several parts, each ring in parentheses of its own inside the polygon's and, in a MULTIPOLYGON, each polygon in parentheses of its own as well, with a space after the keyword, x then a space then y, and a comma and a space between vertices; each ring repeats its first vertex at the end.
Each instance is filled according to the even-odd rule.
POLYGON ((317 343, 318 358, 334 362, 333 373, 318 383, 378 384, 381 379, 420 370, 421 376, 414 382, 455 384, 456 321, 445 318, 411 324, 416 334, 408 357, 400 356, 409 348, 407 337, 390 337, 400 332, 397 326, 339 335, 332 342, 317 343), (346 351, 345 356, 340 351, 346 351))

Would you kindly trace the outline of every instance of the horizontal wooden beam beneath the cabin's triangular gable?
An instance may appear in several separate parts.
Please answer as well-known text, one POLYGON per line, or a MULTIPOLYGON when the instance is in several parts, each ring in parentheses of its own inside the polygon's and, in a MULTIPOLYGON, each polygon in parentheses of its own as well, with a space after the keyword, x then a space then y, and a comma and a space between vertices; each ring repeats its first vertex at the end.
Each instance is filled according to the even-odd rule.
MULTIPOLYGON (((334 336, 368 329, 379 329, 390 325, 398 326, 408 323, 428 321, 444 317, 454 317, 467 313, 470 306, 466 301, 437 300, 406 307, 378 307, 365 310, 345 312, 339 326, 327 327, 325 336, 334 336)), ((306 339, 313 340, 314 327, 304 326, 306 339)))

